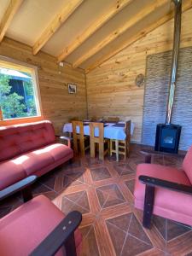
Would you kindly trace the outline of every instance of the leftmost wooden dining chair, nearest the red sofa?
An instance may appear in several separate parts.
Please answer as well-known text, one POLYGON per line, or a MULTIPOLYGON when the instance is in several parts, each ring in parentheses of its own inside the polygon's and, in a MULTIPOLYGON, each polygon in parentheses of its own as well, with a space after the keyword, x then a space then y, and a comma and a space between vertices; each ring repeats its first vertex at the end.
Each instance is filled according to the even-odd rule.
POLYGON ((72 121, 73 126, 73 149, 75 154, 80 154, 84 156, 85 150, 90 148, 90 143, 85 146, 85 141, 88 141, 89 137, 84 136, 84 123, 82 121, 72 121), (79 133, 77 133, 77 127, 79 127, 79 133))

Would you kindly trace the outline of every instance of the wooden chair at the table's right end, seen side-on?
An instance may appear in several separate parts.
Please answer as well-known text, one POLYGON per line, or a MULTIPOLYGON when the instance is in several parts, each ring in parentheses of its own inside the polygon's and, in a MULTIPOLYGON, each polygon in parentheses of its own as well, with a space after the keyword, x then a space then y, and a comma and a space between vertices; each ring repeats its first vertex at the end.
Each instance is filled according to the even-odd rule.
POLYGON ((123 154, 125 159, 130 154, 130 142, 131 142, 131 120, 125 123, 126 138, 124 141, 110 140, 110 155, 123 154))

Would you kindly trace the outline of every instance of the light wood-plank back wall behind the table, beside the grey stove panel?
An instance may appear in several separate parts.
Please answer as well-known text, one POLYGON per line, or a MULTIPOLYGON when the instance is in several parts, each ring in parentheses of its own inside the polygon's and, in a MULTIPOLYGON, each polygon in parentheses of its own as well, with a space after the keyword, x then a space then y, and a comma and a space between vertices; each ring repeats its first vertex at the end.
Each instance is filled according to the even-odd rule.
MULTIPOLYGON (((146 56, 172 49, 173 20, 160 26, 86 75, 89 117, 119 116, 135 124, 132 141, 140 143, 143 126, 144 86, 135 84, 145 74, 146 56)), ((192 10, 182 16, 181 47, 192 45, 192 10)), ((168 86, 168 84, 167 84, 168 86)))

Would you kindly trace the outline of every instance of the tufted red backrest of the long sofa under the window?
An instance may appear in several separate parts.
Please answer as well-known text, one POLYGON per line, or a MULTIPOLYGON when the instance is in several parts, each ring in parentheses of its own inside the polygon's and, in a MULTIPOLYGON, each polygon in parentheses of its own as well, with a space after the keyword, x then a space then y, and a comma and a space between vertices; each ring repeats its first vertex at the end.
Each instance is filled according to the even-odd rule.
POLYGON ((55 142, 49 121, 0 127, 0 161, 55 142))

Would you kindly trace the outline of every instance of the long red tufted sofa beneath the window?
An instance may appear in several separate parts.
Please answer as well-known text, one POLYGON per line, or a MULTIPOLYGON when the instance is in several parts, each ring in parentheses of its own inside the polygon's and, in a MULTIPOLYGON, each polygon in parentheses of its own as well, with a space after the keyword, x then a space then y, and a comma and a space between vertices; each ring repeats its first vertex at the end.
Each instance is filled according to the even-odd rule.
POLYGON ((72 148, 55 142, 49 121, 0 127, 0 190, 32 174, 42 176, 72 158, 72 148))

